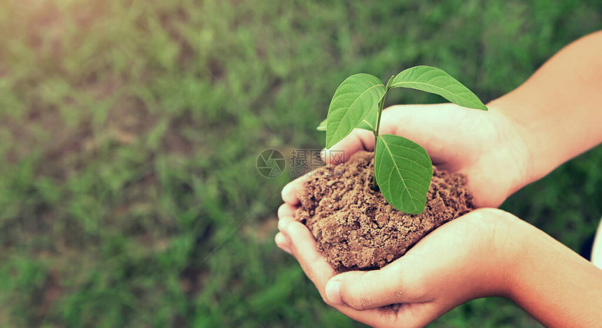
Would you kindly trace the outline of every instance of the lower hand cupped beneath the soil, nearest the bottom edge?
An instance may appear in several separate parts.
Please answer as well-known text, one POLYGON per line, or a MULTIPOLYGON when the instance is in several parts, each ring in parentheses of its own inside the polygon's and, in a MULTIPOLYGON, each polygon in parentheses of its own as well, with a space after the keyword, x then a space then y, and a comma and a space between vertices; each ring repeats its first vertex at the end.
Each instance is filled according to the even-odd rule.
POLYGON ((328 305, 374 327, 422 327, 470 299, 507 296, 525 238, 521 224, 527 225, 504 211, 479 209, 443 224, 382 269, 335 276, 294 210, 281 206, 276 243, 297 258, 328 305), (389 304, 400 305, 381 308, 389 304))

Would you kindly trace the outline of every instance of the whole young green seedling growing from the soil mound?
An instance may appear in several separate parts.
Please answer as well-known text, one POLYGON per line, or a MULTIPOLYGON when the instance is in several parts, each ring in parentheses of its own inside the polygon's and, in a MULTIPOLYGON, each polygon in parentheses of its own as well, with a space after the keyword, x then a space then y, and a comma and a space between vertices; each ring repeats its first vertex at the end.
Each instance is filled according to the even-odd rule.
MULTIPOLYGON (((351 133, 366 129, 374 133, 374 181, 372 188, 398 210, 423 213, 433 166, 424 148, 402 136, 379 135, 384 99, 394 87, 408 87, 438 94, 463 107, 487 110, 467 87, 440 69, 415 66, 391 76, 386 85, 370 74, 349 76, 330 101, 328 117, 318 130, 326 131, 326 148, 351 133)), ((428 124, 428 122, 425 122, 428 124)), ((433 133, 436 133, 433 131, 433 133)))

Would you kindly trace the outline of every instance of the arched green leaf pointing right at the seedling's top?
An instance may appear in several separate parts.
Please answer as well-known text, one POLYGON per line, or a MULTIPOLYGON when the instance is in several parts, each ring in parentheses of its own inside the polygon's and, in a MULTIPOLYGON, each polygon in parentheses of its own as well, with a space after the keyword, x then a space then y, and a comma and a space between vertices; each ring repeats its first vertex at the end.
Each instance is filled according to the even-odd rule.
POLYGON ((448 73, 435 67, 416 66, 406 69, 393 78, 391 87, 409 87, 438 94, 463 107, 487 110, 487 107, 472 91, 448 73))

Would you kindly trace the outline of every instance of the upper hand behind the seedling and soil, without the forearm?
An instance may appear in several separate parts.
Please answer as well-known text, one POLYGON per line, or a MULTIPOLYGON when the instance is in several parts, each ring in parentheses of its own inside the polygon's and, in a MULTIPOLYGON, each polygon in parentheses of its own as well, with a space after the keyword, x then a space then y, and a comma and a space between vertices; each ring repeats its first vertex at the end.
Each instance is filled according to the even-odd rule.
MULTIPOLYGON (((477 207, 498 207, 529 178, 524 131, 491 104, 489 111, 454 104, 392 106, 383 111, 380 134, 398 134, 426 149, 433 164, 468 177, 477 207)), ((374 150, 371 131, 355 129, 330 150, 345 160, 358 150, 374 150)), ((328 164, 328 151, 323 154, 328 164)), ((286 195, 293 201, 296 195, 286 195)))

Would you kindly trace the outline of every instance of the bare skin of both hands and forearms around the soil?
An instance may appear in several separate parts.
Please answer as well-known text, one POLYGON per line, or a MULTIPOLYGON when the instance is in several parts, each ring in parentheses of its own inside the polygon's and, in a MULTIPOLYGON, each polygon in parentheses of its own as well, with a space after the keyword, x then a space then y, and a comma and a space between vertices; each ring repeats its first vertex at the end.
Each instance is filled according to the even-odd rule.
MULTIPOLYGON (((489 112, 453 104, 384 111, 381 133, 410 138, 437 166, 464 173, 480 207, 400 259, 335 276, 294 218, 303 178, 282 190, 276 244, 295 256, 326 304, 374 327, 423 327, 465 301, 493 296, 512 299, 548 327, 601 325, 602 270, 514 215, 487 208, 602 142, 601 54, 602 32, 571 43, 491 101, 489 112), (401 305, 395 312, 382 308, 388 304, 401 305)), ((370 131, 356 129, 332 150, 348 158, 373 148, 370 131)), ((329 162, 328 151, 324 157, 329 162)))

